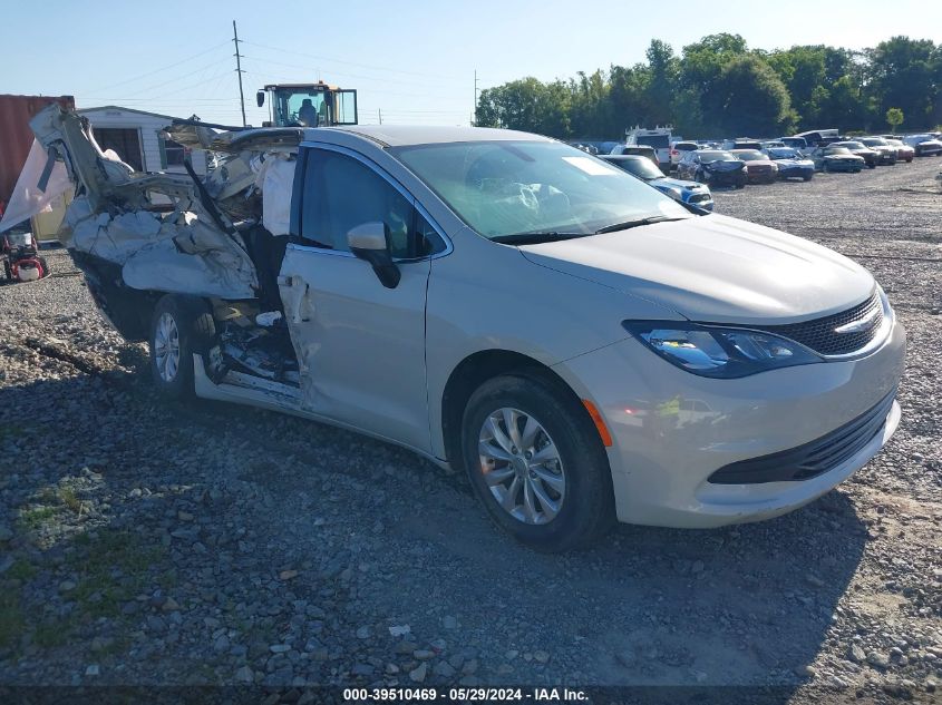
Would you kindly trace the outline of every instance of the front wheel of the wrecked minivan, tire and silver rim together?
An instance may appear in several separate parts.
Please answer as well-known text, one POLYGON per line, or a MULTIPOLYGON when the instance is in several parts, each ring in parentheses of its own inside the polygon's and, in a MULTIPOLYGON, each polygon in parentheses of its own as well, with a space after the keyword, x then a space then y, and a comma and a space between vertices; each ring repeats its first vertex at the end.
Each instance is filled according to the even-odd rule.
POLYGON ((567 390, 505 375, 472 394, 462 449, 494 522, 541 551, 591 544, 614 523, 612 478, 599 431, 567 390))

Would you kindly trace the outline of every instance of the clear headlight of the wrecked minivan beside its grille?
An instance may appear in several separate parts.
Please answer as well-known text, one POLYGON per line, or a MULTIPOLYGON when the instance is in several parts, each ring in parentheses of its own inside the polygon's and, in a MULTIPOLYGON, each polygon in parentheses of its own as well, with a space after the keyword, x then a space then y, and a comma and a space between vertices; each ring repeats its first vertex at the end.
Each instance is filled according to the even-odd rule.
POLYGON ((823 359, 794 341, 745 329, 670 321, 624 321, 645 347, 700 376, 735 379, 823 359))

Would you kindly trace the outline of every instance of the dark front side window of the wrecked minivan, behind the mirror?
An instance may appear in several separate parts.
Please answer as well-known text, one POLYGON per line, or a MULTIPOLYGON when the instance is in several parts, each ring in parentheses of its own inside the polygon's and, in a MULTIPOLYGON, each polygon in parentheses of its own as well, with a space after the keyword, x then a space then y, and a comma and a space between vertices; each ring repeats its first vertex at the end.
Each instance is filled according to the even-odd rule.
POLYGON ((347 233, 379 221, 388 228, 392 256, 409 256, 412 205, 368 166, 347 155, 312 149, 303 188, 301 238, 308 244, 349 252, 347 233))

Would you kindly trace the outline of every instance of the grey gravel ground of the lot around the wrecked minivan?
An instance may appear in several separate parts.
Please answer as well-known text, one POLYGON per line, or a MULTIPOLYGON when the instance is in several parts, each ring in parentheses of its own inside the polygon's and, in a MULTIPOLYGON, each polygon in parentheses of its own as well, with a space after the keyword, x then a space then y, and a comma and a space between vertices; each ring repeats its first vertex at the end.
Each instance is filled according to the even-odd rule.
POLYGON ((158 400, 146 347, 51 251, 60 276, 0 287, 0 685, 939 697, 940 166, 716 194, 718 212, 851 255, 886 287, 910 337, 886 449, 789 516, 621 526, 565 556, 512 544, 464 478, 398 448, 158 400))

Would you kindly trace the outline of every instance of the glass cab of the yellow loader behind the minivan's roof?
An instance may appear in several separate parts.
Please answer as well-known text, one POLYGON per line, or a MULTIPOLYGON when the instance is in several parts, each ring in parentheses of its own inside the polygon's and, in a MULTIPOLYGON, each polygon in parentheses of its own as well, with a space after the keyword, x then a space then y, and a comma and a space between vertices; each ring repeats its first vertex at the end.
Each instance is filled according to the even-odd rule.
POLYGON ((357 124, 357 91, 317 84, 270 84, 255 96, 269 105, 264 127, 330 127, 357 124))

